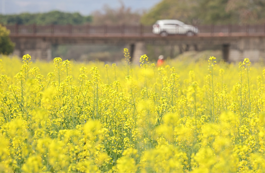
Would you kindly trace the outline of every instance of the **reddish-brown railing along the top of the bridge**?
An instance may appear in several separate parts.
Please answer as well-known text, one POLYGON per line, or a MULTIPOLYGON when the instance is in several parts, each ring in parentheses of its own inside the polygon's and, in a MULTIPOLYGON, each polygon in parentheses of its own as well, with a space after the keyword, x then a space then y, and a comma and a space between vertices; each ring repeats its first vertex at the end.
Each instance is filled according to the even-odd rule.
MULTIPOLYGON (((156 36, 153 26, 145 25, 8 25, 11 36, 156 36)), ((204 25, 197 26, 198 36, 248 36, 265 35, 265 25, 204 25)))

